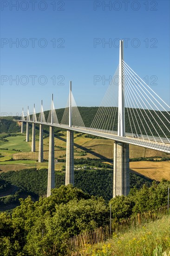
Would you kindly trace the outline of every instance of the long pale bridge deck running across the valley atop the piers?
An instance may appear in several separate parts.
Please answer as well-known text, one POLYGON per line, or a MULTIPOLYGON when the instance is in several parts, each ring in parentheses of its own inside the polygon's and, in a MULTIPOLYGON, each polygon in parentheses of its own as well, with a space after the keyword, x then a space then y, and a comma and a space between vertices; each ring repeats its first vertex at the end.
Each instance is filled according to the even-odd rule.
POLYGON ((140 135, 141 138, 139 139, 139 138, 134 138, 133 137, 134 135, 132 135, 130 133, 126 133, 126 136, 122 137, 122 136, 116 135, 116 132, 108 131, 108 130, 98 130, 98 129, 94 129, 94 128, 83 128, 83 127, 78 128, 75 126, 69 127, 68 125, 63 125, 63 124, 51 124, 51 123, 39 122, 39 121, 37 121, 37 122, 25 121, 25 120, 16 120, 16 121, 54 126, 54 127, 58 127, 58 128, 63 128, 63 129, 67 129, 67 130, 85 133, 85 134, 95 135, 95 136, 99 136, 102 138, 106 138, 106 139, 110 139, 110 140, 114 140, 114 141, 118 141, 118 142, 137 145, 137 146, 144 147, 144 148, 150 148, 153 150, 158 150, 158 151, 162 151, 162 152, 170 154, 170 142, 166 138, 161 138, 163 140, 163 142, 160 142, 161 141, 160 138, 155 137, 155 139, 157 138, 158 141, 154 141, 152 137, 149 136, 149 138, 148 138, 146 135, 145 135, 145 139, 142 137, 142 135, 140 135), (151 138, 152 138, 152 141, 151 141, 151 138))

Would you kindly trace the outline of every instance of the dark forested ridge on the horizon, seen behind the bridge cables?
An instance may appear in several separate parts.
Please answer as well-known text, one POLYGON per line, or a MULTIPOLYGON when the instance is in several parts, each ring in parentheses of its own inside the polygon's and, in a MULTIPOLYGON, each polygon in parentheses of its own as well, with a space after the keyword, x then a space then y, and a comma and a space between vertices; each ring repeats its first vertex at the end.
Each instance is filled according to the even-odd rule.
MULTIPOLYGON (((63 113, 64 113, 64 108, 59 108, 56 110, 57 112, 57 116, 58 116, 58 120, 59 122, 62 119, 63 113)), ((78 110, 80 112, 80 115, 84 121, 85 127, 90 127, 92 124, 92 121, 98 111, 98 107, 78 107, 78 110)), ((113 118, 111 118, 111 114, 113 113, 113 111, 111 111, 111 109, 109 108, 105 108, 105 122, 102 124, 101 128, 108 128, 108 127, 112 127, 112 122, 113 122, 113 118), (107 122, 107 120, 110 120, 110 122, 107 122)), ((169 112, 170 113, 170 112, 169 112)), ((46 120, 48 118, 48 114, 49 111, 45 111, 44 112, 46 120)), ((169 115, 167 112, 162 111, 162 114, 168 119, 169 115)), ((132 131, 134 133, 138 133, 138 134, 148 134, 148 135, 154 135, 154 136, 158 136, 156 133, 156 130, 159 131, 159 135, 162 137, 165 137, 165 135, 167 137, 170 137, 170 134, 168 133, 167 129, 163 128, 163 123, 168 127, 169 123, 167 121, 166 118, 163 117, 160 112, 158 111, 153 111, 153 110, 143 110, 143 109, 130 109, 130 108, 125 108, 125 130, 128 133, 131 133, 131 128, 132 131), (137 114, 137 112, 140 114, 137 114), (129 116, 130 116, 130 121, 129 121, 129 116), (131 115, 130 115, 131 113, 131 115), (158 116, 159 117, 158 117, 158 116), (150 128, 148 128, 146 122, 144 121, 144 119, 147 121, 148 124, 150 124, 150 128), (162 121, 163 122, 162 122, 162 121), (150 123, 151 121, 151 123, 150 123), (137 122, 139 123, 140 128, 137 125, 137 122), (143 124, 142 124, 143 123, 143 124), (158 124, 157 124, 158 123, 158 124), (136 127, 136 129, 134 128, 134 126, 136 127), (163 129, 163 132, 161 131, 161 129, 159 128, 159 126, 163 129), (146 131, 146 132, 145 132, 146 131)), ((39 117, 39 114, 37 114, 37 119, 39 117)), ((20 132, 20 126, 19 124, 17 124, 16 122, 13 121, 13 119, 18 119, 18 117, 10 117, 10 118, 0 118, 0 133, 7 133, 7 132, 20 132)), ((118 108, 116 108, 115 111, 115 121, 114 121, 114 127, 113 130, 117 130, 117 126, 118 126, 118 108)), ((44 127, 47 131, 48 131, 48 127, 44 127)))

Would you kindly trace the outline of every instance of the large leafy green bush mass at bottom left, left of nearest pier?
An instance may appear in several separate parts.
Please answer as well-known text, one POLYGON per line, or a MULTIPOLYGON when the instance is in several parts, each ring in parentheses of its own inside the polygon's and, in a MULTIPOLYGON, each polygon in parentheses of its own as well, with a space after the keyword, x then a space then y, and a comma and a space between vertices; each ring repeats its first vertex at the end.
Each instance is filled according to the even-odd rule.
POLYGON ((65 255, 70 236, 105 225, 108 207, 103 198, 85 194, 72 185, 53 189, 33 202, 20 199, 12 216, 0 214, 0 255, 65 255))

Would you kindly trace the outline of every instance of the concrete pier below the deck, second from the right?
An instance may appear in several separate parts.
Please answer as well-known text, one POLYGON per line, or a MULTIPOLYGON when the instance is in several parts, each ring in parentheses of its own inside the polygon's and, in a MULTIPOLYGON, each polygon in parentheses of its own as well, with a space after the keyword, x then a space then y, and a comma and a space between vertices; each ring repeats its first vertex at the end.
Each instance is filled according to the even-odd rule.
POLYGON ((67 131, 65 186, 74 186, 74 132, 67 131))

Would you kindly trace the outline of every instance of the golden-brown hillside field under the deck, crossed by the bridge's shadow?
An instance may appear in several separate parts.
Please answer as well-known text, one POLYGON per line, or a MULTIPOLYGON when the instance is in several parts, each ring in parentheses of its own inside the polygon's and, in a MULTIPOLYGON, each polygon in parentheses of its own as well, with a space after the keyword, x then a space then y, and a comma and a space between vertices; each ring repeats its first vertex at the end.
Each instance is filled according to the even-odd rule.
MULTIPOLYGON (((64 136, 55 137, 54 144, 55 144, 55 157, 59 158, 61 155, 65 155, 64 150, 60 150, 57 147, 65 148, 66 150, 66 132, 63 132, 64 136)), ((39 150, 39 138, 36 136, 36 151, 39 150)), ((26 142, 30 145, 31 148, 31 141, 26 142)), ((81 155, 78 154, 78 152, 85 151, 86 155, 85 157, 90 158, 100 158, 105 156, 106 158, 112 159, 113 158, 113 143, 112 140, 104 140, 104 139, 91 139, 91 138, 85 138, 85 135, 77 136, 77 134, 74 134, 74 150, 75 158, 80 158, 81 155)), ((49 138, 44 139, 44 151, 45 151, 45 159, 48 159, 48 148, 49 148, 49 138)), ((24 153, 20 154, 24 155, 24 153)), ((34 157, 37 156, 38 153, 34 153, 34 157)), ((163 152, 159 152, 156 150, 151 150, 148 148, 142 148, 135 145, 130 145, 130 158, 135 157, 150 157, 150 156, 167 156, 163 152)), ((32 155, 28 155, 28 158, 32 158, 32 155)))

